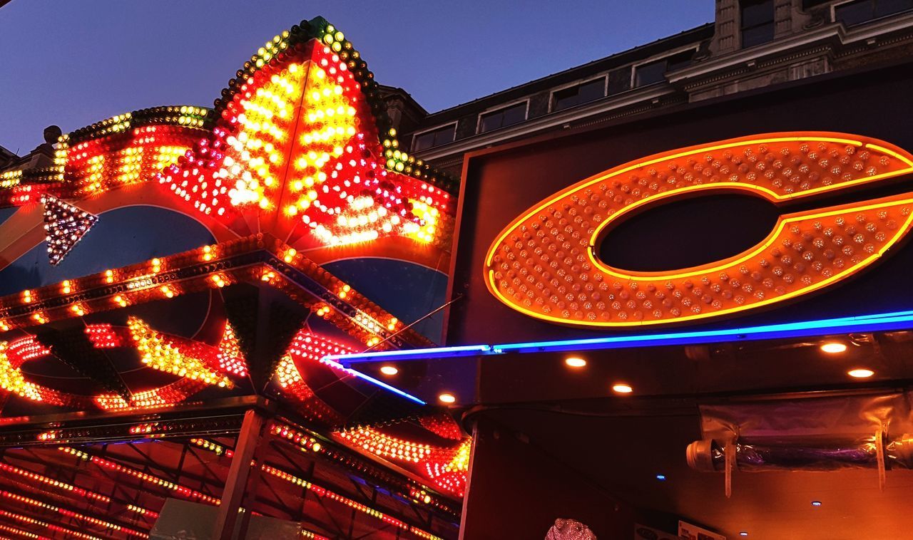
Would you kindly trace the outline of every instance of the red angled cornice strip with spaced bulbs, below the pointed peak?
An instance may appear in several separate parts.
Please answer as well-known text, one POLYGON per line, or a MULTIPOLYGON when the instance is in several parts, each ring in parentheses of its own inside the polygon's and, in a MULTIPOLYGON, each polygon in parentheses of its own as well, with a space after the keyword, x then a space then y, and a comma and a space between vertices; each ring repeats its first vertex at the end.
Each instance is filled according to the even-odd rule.
POLYGON ((253 235, 0 297, 0 331, 220 288, 268 282, 375 348, 430 345, 382 307, 277 239, 253 235), (214 270, 212 264, 225 268, 214 270), (158 263, 157 265, 155 263, 158 263), (155 269, 158 268, 158 271, 155 269), (218 278, 218 279, 215 279, 218 278), (114 287, 126 290, 112 292, 114 287), (69 293, 62 291, 68 290, 69 293), (345 293, 344 296, 341 293, 345 293), (394 336, 395 335, 395 336, 394 336))

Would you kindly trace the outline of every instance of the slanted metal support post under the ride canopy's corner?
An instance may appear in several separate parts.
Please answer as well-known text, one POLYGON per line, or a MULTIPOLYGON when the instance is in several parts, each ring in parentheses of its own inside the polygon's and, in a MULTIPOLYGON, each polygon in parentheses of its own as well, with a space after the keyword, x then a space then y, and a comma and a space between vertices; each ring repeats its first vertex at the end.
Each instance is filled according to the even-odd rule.
POLYGON ((257 449, 257 442, 265 424, 263 413, 259 410, 248 410, 244 414, 241 432, 237 437, 235 455, 228 468, 225 490, 222 492, 222 504, 215 516, 213 538, 232 540, 235 532, 238 508, 241 507, 247 489, 247 477, 250 474, 250 461, 257 449))

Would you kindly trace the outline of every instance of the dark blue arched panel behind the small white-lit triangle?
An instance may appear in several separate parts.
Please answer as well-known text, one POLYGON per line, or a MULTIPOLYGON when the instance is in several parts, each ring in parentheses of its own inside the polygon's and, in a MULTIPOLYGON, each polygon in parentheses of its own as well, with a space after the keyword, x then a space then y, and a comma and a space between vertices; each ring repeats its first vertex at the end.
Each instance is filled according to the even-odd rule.
POLYGON ((142 263, 212 242, 212 234, 183 213, 156 206, 119 208, 102 213, 99 223, 59 265, 50 265, 47 245, 41 243, 5 267, 0 271, 0 295, 142 263))

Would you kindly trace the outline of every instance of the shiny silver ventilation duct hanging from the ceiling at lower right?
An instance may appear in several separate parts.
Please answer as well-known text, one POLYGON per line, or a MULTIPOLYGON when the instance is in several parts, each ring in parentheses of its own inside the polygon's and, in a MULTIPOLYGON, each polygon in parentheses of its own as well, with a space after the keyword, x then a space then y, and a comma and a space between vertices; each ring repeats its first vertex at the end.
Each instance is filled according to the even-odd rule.
POLYGON ((913 469, 910 392, 845 393, 705 404, 687 463, 703 472, 913 469))

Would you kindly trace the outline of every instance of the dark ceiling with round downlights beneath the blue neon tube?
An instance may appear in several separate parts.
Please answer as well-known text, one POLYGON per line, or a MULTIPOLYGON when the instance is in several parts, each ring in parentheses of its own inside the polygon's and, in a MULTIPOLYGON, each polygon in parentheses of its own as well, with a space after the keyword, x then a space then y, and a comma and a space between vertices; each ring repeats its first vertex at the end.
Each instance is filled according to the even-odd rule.
MULTIPOLYGON (((903 389, 913 379, 907 362, 913 353, 910 336, 891 332, 486 357, 478 387, 481 404, 467 411, 464 423, 470 425, 477 415, 497 421, 618 499, 729 538, 742 531, 751 538, 901 538, 913 524, 911 471, 888 471, 883 493, 875 469, 735 472, 727 499, 723 473, 688 468, 686 447, 702 438, 702 404, 794 400, 803 410, 822 395, 903 389), (819 348, 825 341, 849 347, 827 354, 819 348), (587 366, 569 368, 563 361, 569 356, 585 358, 587 366), (859 367, 876 374, 870 379, 847 375, 859 367), (630 384, 634 392, 614 394, 616 381, 630 384), (666 480, 657 480, 657 474, 666 480)), ((814 414, 813 408, 807 410, 814 414)))

